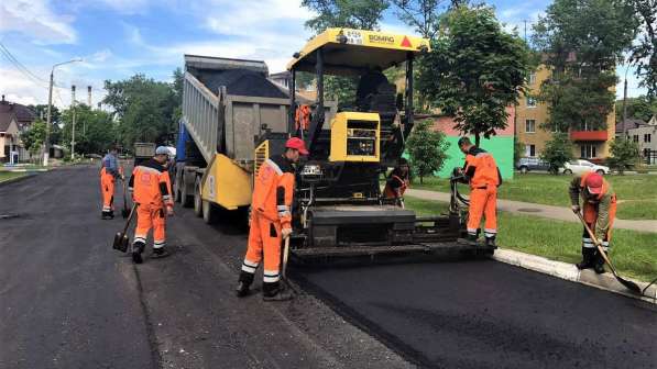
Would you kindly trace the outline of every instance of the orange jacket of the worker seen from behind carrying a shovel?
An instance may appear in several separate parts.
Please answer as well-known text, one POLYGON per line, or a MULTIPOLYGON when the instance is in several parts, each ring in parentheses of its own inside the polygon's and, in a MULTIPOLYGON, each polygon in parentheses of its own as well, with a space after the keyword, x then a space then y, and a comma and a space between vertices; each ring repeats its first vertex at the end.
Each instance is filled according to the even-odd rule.
POLYGON ((154 206, 173 206, 171 178, 166 168, 154 159, 134 167, 128 183, 134 202, 154 206))

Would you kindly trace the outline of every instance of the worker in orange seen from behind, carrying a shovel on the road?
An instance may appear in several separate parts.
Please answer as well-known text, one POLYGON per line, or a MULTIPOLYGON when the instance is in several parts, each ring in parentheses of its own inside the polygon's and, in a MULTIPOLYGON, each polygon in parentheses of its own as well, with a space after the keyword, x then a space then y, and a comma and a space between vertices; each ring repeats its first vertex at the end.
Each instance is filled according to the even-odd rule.
POLYGON ((164 146, 155 149, 155 156, 141 163, 128 182, 132 200, 136 204, 136 227, 132 242, 132 261, 141 264, 149 231, 153 228, 153 257, 167 255, 166 216, 173 216, 171 178, 166 168, 169 150, 164 146))

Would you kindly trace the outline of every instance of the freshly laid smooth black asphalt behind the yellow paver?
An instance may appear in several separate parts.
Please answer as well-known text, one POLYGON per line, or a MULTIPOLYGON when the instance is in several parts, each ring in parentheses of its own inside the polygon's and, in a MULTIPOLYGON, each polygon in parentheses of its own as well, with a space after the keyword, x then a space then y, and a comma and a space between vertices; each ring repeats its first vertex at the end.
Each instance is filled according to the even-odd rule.
POLYGON ((657 305, 496 261, 298 278, 421 367, 657 368, 657 305))

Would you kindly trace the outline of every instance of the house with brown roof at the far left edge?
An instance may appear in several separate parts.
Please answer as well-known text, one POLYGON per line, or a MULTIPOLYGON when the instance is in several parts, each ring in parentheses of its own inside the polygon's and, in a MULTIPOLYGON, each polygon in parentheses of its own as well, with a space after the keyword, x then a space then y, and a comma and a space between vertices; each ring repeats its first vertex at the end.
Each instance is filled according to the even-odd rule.
POLYGON ((0 163, 11 161, 11 153, 19 156, 19 160, 28 160, 30 154, 24 149, 20 135, 28 130, 35 120, 34 112, 18 103, 0 100, 0 163))

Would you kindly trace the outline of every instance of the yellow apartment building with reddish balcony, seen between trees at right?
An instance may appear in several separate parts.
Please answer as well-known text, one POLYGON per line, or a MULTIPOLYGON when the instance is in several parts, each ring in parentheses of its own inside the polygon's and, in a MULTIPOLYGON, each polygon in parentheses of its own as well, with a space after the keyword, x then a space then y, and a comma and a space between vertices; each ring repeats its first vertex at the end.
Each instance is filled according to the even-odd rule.
MULTIPOLYGON (((536 96, 543 81, 550 77, 547 67, 540 66, 528 78, 528 96, 521 97, 516 108, 516 137, 525 145, 527 157, 538 157, 545 145, 552 138, 555 132, 546 130, 544 124, 548 121, 549 111, 545 103, 536 101, 536 96)), ((573 142, 573 156, 592 161, 601 161, 609 156, 610 143, 615 137, 615 111, 606 116, 605 130, 590 130, 582 127, 568 132, 573 142)))

